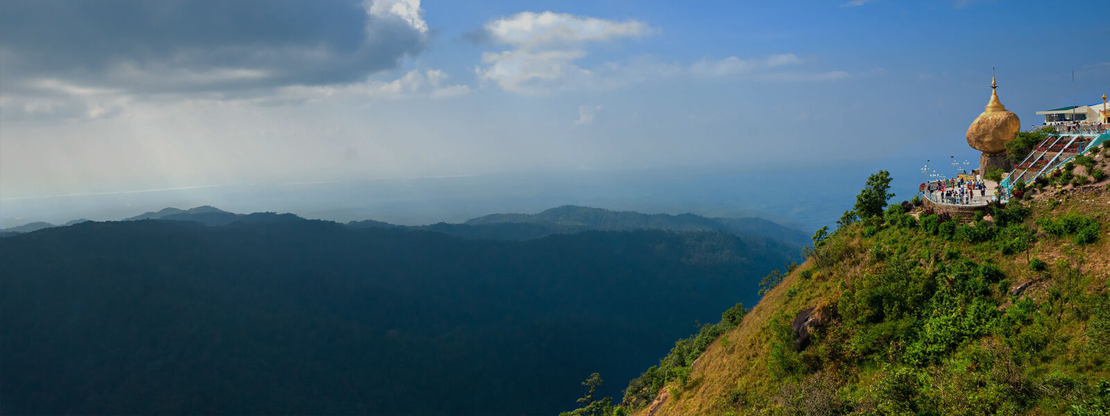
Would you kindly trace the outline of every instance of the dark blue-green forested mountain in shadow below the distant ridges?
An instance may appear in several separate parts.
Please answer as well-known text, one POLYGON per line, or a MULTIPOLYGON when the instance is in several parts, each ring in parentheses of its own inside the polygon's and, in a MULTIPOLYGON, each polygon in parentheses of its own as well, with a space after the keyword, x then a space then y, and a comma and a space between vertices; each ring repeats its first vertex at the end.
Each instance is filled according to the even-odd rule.
POLYGON ((589 373, 632 378, 754 302, 794 255, 751 239, 472 240, 264 213, 8 236, 0 410, 554 414, 589 373))

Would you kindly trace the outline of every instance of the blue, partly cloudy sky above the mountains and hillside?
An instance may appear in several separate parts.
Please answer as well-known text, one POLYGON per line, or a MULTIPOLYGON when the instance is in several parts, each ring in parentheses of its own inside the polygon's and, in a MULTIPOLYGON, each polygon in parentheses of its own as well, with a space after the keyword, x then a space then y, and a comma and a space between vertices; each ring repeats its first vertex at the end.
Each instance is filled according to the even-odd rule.
MULTIPOLYGON (((706 171, 804 195, 829 166, 975 160, 963 133, 992 68, 1026 126, 1100 102, 1108 16, 1107 1, 3 1, 0 226, 171 203, 385 215, 365 207, 393 196, 293 203, 297 186, 360 181, 436 183, 406 189, 413 206, 458 177, 502 202, 706 171)), ((682 211, 653 189, 604 201, 682 211)), ((436 201, 406 221, 463 215, 436 201)))

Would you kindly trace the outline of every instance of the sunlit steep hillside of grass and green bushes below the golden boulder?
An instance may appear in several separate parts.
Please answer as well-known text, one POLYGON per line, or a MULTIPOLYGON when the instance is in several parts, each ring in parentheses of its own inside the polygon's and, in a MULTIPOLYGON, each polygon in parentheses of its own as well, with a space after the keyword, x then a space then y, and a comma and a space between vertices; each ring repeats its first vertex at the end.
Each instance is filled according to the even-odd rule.
POLYGON ((1106 415, 1106 182, 982 219, 846 215, 703 354, 682 341, 619 407, 573 414, 1106 415))

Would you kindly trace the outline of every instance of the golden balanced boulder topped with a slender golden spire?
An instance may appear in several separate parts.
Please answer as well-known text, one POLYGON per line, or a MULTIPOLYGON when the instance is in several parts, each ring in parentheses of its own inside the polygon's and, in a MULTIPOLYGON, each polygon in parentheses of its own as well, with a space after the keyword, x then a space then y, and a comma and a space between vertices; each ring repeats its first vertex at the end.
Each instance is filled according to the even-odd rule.
MULTIPOLYGON (((993 71, 993 70, 992 70, 993 71)), ((991 169, 999 168, 1003 171, 1012 169, 1011 163, 1006 158, 1006 143, 1013 140, 1018 131, 1021 130, 1021 120, 1018 114, 1006 110, 1001 101, 998 101, 998 82, 995 75, 990 75, 990 102, 979 116, 971 122, 968 128, 968 145, 982 152, 979 158, 979 172, 986 174, 991 169)))

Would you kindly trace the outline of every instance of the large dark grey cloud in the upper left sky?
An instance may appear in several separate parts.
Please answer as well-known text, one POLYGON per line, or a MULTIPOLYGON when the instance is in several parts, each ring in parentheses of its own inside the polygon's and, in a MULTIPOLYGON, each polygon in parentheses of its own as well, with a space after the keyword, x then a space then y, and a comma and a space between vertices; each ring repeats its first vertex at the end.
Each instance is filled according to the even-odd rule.
POLYGON ((342 83, 395 68, 426 42, 418 0, 14 0, 0 6, 0 88, 226 93, 342 83))

